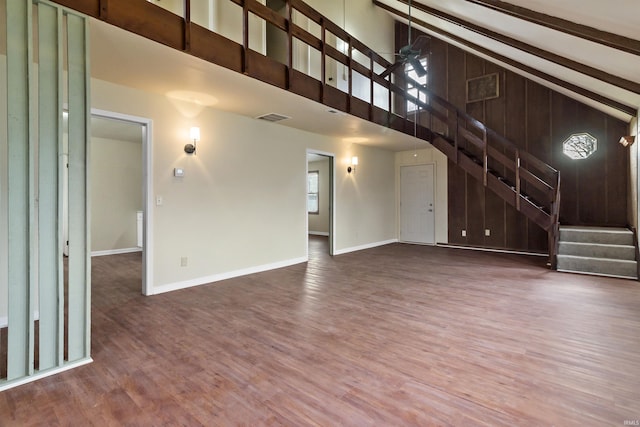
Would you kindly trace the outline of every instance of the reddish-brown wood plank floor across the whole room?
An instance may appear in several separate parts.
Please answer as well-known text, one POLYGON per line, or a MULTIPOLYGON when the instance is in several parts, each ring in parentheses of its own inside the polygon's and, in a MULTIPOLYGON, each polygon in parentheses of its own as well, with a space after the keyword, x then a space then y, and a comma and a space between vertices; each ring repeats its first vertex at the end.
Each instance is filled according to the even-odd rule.
POLYGON ((93 260, 91 365, 0 393, 0 425, 623 426, 640 287, 544 258, 394 244, 169 294, 93 260))

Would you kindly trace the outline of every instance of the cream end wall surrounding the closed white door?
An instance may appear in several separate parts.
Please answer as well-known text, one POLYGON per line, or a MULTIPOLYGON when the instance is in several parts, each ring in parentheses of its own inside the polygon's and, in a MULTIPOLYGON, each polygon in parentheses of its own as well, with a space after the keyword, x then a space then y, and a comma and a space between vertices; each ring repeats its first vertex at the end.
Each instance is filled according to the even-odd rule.
MULTIPOLYGON (((447 156, 429 146, 420 150, 396 153, 396 209, 400 218, 400 167, 411 165, 435 165, 435 214, 436 243, 449 243, 448 191, 447 191, 447 156)), ((400 233, 398 223, 397 233, 400 233)))

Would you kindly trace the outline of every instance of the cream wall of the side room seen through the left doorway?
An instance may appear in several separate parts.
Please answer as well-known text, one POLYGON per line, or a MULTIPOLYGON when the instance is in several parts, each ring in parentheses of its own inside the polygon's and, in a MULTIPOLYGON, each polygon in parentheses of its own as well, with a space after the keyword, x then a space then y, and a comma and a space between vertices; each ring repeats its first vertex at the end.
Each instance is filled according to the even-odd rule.
POLYGON ((142 210, 142 132, 137 142, 91 138, 91 251, 137 246, 142 210))

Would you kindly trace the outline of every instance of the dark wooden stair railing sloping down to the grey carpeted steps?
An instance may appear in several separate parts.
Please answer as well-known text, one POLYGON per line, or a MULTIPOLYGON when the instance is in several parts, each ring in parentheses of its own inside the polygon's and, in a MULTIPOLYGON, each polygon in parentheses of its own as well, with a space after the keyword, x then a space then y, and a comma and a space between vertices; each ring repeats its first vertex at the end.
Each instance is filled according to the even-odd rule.
MULTIPOLYGON (((453 163, 544 229, 548 233, 549 265, 555 269, 559 239, 560 171, 520 150, 503 135, 418 82, 406 76, 404 79, 423 95, 412 96, 394 84, 390 84, 390 89, 402 95, 405 102, 418 105, 419 109, 430 115, 430 126, 420 132, 416 130, 416 136, 429 135, 431 145, 453 163), (433 130, 442 127, 444 132, 433 130)), ((414 117, 420 121, 420 113, 414 117)))

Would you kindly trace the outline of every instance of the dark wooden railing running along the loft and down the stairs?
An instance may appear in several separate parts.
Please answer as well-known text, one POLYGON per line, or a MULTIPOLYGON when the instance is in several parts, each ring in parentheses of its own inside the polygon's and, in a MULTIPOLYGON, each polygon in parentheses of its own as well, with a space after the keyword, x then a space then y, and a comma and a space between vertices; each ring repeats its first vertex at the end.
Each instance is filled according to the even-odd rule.
MULTIPOLYGON (((549 233, 555 267, 560 173, 432 93, 301 0, 272 10, 257 0, 54 0, 214 64, 431 142, 549 233), (165 2, 164 4, 170 4, 165 2), (208 6, 207 6, 208 7, 208 6), (285 47, 285 48, 283 48, 285 47), (319 69, 319 72, 318 72, 319 69), (344 78, 339 75, 344 74, 344 78), (407 92, 412 84, 419 97, 407 92), (422 101, 426 99, 427 102, 422 101), (421 113, 409 114, 407 102, 421 113)), ((266 3, 266 0, 263 0, 266 3)))

